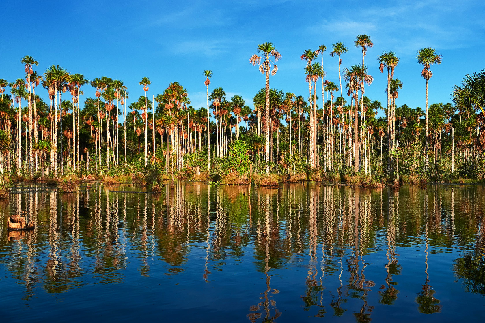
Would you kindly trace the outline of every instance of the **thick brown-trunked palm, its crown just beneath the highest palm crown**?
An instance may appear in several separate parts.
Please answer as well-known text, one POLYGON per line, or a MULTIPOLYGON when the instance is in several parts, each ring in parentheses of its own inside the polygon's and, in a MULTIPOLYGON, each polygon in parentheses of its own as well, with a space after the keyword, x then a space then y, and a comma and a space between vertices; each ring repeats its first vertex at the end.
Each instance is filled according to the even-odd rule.
POLYGON ((361 95, 364 91, 364 83, 370 85, 373 81, 372 76, 367 74, 367 67, 362 65, 352 65, 350 69, 345 68, 344 71, 345 80, 349 82, 349 91, 356 91, 355 97, 355 110, 354 110, 354 172, 359 171, 359 115, 358 115, 358 90, 360 89, 361 95))

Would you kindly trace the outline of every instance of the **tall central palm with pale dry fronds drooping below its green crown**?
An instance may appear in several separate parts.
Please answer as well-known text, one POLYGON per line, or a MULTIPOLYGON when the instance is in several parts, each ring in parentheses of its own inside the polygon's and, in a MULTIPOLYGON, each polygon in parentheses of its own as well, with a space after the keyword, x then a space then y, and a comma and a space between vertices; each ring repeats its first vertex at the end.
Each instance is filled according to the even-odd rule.
MULTIPOLYGON (((249 62, 253 64, 253 66, 256 66, 259 64, 259 72, 261 74, 266 73, 266 86, 265 86, 265 92, 266 92, 266 98, 265 98, 265 106, 266 106, 266 117, 270 115, 270 71, 271 75, 275 75, 276 72, 278 71, 278 66, 276 66, 275 62, 277 62, 281 58, 281 54, 276 50, 276 47, 273 45, 273 43, 263 43, 258 45, 258 52, 263 56, 260 57, 256 54, 253 54, 251 58, 249 59, 249 62), (270 57, 274 59, 275 62, 272 62, 270 60, 270 57), (264 58, 264 62, 260 64, 261 58, 264 58), (273 68, 271 64, 273 63, 273 68)), ((266 162, 270 162, 270 155, 269 155, 269 150, 270 150, 270 123, 269 120, 266 122, 266 162)), ((270 173, 270 167, 269 164, 266 166, 266 174, 270 173)))

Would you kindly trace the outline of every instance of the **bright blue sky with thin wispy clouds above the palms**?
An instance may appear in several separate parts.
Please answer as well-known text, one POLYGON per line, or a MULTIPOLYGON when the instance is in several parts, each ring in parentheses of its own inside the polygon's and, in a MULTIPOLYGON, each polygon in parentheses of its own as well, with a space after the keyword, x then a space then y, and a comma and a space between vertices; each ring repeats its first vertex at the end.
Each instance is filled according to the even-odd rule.
MULTIPOLYGON (((129 103, 144 94, 138 82, 149 77, 150 97, 178 81, 195 108, 205 107, 202 72, 211 69, 210 91, 222 87, 228 99, 240 94, 252 107, 264 76, 249 57, 266 41, 282 55, 270 86, 305 97, 302 52, 327 46, 325 78, 338 83, 332 43, 349 48, 343 67, 359 63, 361 50, 353 46, 359 33, 371 35, 375 44, 365 58, 374 77, 365 94, 384 106, 386 76, 376 61, 383 50, 400 58, 395 77, 404 88, 396 103, 411 108, 425 106, 418 49, 431 46, 443 56, 443 63, 431 68, 430 104, 449 102, 453 84, 484 68, 484 1, 5 1, 2 9, 1 78, 23 77, 20 59, 31 55, 40 62, 40 73, 59 64, 89 79, 121 79, 129 103)), ((47 101, 47 92, 36 90, 47 101)), ((84 98, 94 97, 94 89, 83 90, 84 98)))

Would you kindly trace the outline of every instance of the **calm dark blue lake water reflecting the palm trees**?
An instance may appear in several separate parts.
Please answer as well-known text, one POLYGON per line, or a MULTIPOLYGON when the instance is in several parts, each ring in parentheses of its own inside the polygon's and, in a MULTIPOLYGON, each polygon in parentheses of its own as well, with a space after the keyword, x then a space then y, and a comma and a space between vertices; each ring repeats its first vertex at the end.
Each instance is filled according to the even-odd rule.
POLYGON ((485 190, 451 187, 285 185, 248 198, 193 183, 159 196, 17 186, 0 200, 0 317, 479 321, 485 190), (20 210, 35 231, 7 231, 20 210))

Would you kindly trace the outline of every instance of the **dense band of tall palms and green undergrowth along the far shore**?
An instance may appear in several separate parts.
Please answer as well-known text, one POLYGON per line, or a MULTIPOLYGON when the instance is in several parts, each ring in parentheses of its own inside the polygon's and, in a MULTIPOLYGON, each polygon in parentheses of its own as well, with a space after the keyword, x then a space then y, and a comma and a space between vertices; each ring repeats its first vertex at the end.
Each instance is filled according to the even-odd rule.
POLYGON ((276 175, 291 181, 354 176, 368 183, 483 179, 485 70, 466 75, 450 89, 453 103, 428 106, 430 66, 442 57, 433 48, 421 49, 417 62, 423 66, 426 102, 424 108, 410 108, 399 105, 404 86, 395 77, 399 58, 384 51, 377 57, 380 71, 387 74, 383 105, 365 95, 373 81, 367 64, 375 61, 364 63, 372 40, 361 34, 354 45, 362 50, 362 64, 349 67, 341 66, 349 48, 332 45, 330 56, 339 66, 334 81, 325 79, 326 46, 304 51, 308 97, 270 87, 281 54, 272 43, 259 45, 250 63, 265 74, 266 84, 255 93, 252 108, 239 95, 226 97, 220 87, 210 92, 210 70, 203 74, 207 107, 195 109, 178 82, 155 94, 144 77, 139 82, 144 94, 133 100, 121 80, 88 80, 59 65, 38 73, 33 70, 38 62, 25 56, 23 78, 0 79, 0 185, 8 185, 6 177, 146 174, 149 167, 159 177, 231 175, 247 183, 249 165, 268 181, 276 175), (35 94, 38 86, 48 90, 48 98, 35 94), (384 116, 378 116, 379 110, 384 116))

